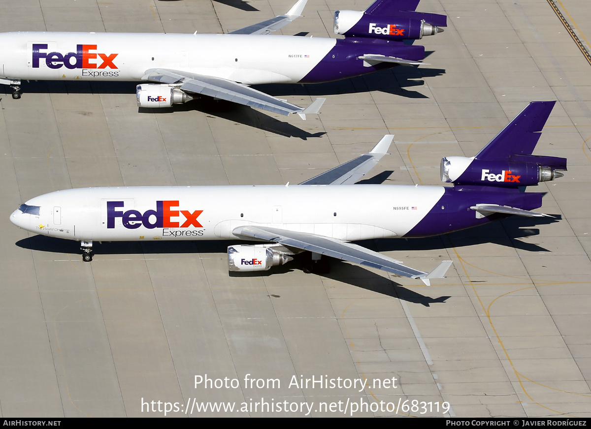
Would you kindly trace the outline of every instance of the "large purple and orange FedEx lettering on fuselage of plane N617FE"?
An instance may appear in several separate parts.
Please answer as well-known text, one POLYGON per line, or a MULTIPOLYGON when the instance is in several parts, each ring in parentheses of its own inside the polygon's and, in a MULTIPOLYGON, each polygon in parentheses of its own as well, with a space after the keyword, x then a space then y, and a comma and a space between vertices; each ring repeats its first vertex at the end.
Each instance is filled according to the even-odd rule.
POLYGON ((62 54, 59 52, 43 52, 47 50, 46 43, 33 44, 33 68, 39 68, 39 62, 42 58, 45 59, 45 64, 49 68, 61 68, 66 66, 70 70, 74 68, 117 68, 113 63, 115 57, 119 54, 100 54, 96 51, 96 45, 76 45, 76 52, 62 54), (102 63, 95 63, 98 60, 97 56, 102 60, 102 63))

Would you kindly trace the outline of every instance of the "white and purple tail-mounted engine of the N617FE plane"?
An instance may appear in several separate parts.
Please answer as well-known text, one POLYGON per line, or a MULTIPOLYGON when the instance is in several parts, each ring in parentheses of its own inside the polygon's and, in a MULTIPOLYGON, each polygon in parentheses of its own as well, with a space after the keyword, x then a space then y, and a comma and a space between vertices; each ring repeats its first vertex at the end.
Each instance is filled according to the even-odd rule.
POLYGON ((358 11, 335 12, 335 34, 387 40, 418 40, 443 31, 424 19, 384 17, 358 11))

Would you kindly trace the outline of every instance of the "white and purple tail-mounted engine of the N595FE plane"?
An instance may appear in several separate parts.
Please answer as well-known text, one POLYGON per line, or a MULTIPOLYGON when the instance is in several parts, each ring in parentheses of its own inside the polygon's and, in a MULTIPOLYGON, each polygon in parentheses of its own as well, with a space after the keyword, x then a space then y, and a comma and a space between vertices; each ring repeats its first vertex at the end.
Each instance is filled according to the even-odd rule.
POLYGON ((482 161, 464 156, 441 158, 441 181, 455 185, 535 186, 562 177, 566 159, 553 156, 514 155, 519 161, 482 161), (522 161, 523 160, 523 161, 522 161))

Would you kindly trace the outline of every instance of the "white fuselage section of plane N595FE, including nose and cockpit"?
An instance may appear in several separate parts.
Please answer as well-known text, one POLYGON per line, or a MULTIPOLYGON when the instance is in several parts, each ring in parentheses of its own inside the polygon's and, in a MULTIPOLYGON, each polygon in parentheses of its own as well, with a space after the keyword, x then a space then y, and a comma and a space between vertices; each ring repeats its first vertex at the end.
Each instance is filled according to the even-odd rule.
POLYGON ((345 241, 402 237, 441 186, 145 186, 51 192, 11 215, 18 227, 70 240, 223 240, 259 225, 345 241))

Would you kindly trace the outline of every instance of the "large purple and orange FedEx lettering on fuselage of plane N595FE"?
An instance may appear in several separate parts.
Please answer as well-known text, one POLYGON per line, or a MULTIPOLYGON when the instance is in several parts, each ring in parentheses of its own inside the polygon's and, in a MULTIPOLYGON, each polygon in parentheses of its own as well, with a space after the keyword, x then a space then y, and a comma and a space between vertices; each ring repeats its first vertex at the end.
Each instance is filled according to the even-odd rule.
POLYGON ((190 212, 188 210, 175 210, 178 201, 156 201, 155 210, 139 212, 137 210, 119 211, 124 207, 123 201, 107 201, 107 228, 115 228, 115 219, 121 218, 123 226, 129 230, 135 230, 142 225, 145 228, 203 228, 197 217, 203 210, 190 212), (184 217, 184 220, 183 220, 184 217), (183 223, 181 224, 181 221, 183 223))

